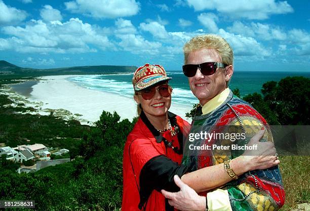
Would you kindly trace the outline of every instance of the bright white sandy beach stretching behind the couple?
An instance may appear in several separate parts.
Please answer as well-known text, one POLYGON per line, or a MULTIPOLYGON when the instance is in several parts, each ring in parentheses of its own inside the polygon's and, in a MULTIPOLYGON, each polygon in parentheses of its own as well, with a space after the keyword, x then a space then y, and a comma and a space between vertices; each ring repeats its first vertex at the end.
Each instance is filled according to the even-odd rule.
MULTIPOLYGON (((116 111, 121 119, 132 120, 136 116, 136 103, 133 96, 121 96, 110 92, 91 90, 67 81, 73 76, 41 77, 38 84, 32 86, 28 100, 42 101, 42 109, 65 109, 72 114, 81 114, 81 118, 90 122, 99 120, 102 111, 116 111)), ((185 118, 190 106, 173 103, 169 111, 185 118)))

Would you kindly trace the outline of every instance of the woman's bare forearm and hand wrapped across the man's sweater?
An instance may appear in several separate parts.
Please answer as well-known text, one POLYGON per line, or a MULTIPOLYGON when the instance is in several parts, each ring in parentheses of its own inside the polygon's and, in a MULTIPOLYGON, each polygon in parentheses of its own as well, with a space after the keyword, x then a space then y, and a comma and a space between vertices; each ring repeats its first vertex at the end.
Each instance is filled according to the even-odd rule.
MULTIPOLYGON (((276 149, 271 142, 259 142, 264 134, 264 130, 260 130, 255 134, 248 146, 257 145, 257 150, 246 151, 242 156, 234 158, 230 161, 231 169, 238 176, 255 169, 266 169, 280 163, 277 160, 276 149)), ((231 181, 227 174, 224 164, 205 167, 190 173, 186 173, 181 177, 182 182, 194 189, 197 193, 212 190, 231 181)))

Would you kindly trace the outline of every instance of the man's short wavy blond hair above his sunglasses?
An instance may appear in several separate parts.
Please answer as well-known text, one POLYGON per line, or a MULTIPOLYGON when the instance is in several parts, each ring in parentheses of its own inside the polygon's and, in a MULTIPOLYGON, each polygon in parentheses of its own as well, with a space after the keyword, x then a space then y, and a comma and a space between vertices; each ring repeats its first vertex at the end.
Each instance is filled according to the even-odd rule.
POLYGON ((190 52, 195 50, 210 48, 215 49, 222 58, 222 63, 232 65, 234 63, 234 52, 227 41, 215 34, 205 34, 192 38, 185 43, 183 47, 184 64, 187 63, 187 57, 190 52))

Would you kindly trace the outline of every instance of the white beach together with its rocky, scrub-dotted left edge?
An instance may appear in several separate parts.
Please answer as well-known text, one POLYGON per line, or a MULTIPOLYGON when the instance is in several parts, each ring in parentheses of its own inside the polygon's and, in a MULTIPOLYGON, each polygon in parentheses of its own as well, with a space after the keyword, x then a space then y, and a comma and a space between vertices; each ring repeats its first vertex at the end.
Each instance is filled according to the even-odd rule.
MULTIPOLYGON (((87 89, 67 80, 70 77, 75 77, 75 75, 40 77, 38 78, 40 81, 36 81, 30 87, 32 91, 29 96, 21 95, 15 90, 18 89, 18 86, 29 89, 29 86, 34 81, 15 85, 15 90, 11 87, 12 85, 7 85, 12 89, 7 93, 10 96, 14 95, 15 98, 18 96, 18 102, 22 101, 27 107, 37 109, 37 114, 49 115, 53 112, 56 116, 67 116, 69 119, 79 120, 81 124, 92 125, 99 120, 103 111, 111 114, 115 111, 121 117, 121 120, 129 119, 129 121, 132 121, 136 117, 136 102, 133 97, 87 89), (57 114, 57 112, 60 114, 57 114)), ((174 103, 172 99, 169 111, 190 121, 185 118, 185 113, 191 109, 191 106, 174 103)))

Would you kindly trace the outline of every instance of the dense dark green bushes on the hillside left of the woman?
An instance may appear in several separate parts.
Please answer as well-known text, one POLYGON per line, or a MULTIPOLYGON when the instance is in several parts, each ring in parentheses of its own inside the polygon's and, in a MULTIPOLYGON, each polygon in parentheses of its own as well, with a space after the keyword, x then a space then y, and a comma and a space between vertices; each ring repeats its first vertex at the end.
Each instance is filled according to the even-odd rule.
MULTIPOLYGON (((45 120, 47 123, 43 121, 42 125, 49 123, 45 120)), ((0 178, 3 178, 0 200, 35 200, 37 210, 118 210, 122 201, 123 148, 133 123, 127 119, 120 121, 117 113, 103 112, 96 125, 81 134, 80 144, 71 142, 71 145, 78 145, 72 162, 17 174, 15 170, 19 165, 13 166, 17 164, 3 157, 0 160, 0 178)), ((50 133, 56 134, 57 130, 58 127, 51 127, 50 133)), ((40 132, 44 130, 38 130, 37 134, 40 132)), ((59 146, 53 142, 49 144, 59 146)))

